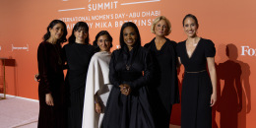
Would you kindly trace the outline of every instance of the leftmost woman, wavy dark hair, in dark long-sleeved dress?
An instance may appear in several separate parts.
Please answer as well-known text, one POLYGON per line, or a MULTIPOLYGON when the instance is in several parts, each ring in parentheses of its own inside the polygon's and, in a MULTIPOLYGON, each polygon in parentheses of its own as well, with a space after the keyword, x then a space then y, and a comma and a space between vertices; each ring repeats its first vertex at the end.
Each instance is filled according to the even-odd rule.
POLYGON ((67 40, 65 23, 52 21, 37 49, 39 117, 38 128, 65 128, 64 75, 61 43, 67 40))

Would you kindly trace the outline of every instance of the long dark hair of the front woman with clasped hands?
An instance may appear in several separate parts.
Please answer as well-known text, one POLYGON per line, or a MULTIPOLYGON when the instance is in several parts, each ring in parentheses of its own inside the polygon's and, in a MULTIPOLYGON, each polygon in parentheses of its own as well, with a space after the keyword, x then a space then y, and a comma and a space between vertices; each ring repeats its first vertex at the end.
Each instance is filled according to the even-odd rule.
POLYGON ((141 35, 140 35, 140 32, 139 32, 139 29, 137 28, 137 26, 134 23, 127 22, 127 23, 123 24, 123 26, 121 28, 121 31, 120 31, 120 40, 119 41, 120 41, 121 49, 124 49, 124 48, 128 49, 126 43, 124 42, 124 38, 123 38, 123 31, 127 27, 132 27, 135 30, 136 34, 137 34, 137 40, 134 43, 133 48, 141 46, 141 35))

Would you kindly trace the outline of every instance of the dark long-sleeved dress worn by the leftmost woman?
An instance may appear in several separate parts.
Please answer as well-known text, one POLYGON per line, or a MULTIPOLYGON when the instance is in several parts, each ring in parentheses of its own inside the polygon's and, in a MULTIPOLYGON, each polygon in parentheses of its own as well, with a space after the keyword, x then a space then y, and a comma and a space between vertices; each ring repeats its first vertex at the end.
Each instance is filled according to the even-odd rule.
POLYGON ((65 128, 64 75, 60 44, 43 41, 37 49, 39 117, 38 128, 65 128), (54 106, 45 102, 45 95, 51 94, 54 106))

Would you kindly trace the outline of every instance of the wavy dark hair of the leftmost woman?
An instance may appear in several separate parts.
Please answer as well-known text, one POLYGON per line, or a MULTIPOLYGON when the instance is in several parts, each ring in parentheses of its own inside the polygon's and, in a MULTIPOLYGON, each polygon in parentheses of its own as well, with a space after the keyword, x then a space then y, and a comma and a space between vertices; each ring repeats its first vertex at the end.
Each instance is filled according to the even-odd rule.
POLYGON ((67 36, 67 34, 68 34, 68 32, 67 32, 67 26, 66 26, 66 24, 64 23, 64 22, 62 22, 62 21, 60 21, 60 20, 53 20, 53 21, 51 21, 51 23, 49 24, 49 26, 47 27, 47 32, 43 35, 43 40, 44 41, 46 41, 47 39, 49 39, 50 38, 50 31, 49 31, 49 29, 52 29, 55 25, 57 25, 57 24, 61 24, 63 27, 64 27, 64 30, 63 30, 63 35, 60 37, 60 39, 58 39, 58 43, 63 43, 63 42, 65 42, 65 41, 67 41, 67 38, 66 38, 66 36, 67 36))

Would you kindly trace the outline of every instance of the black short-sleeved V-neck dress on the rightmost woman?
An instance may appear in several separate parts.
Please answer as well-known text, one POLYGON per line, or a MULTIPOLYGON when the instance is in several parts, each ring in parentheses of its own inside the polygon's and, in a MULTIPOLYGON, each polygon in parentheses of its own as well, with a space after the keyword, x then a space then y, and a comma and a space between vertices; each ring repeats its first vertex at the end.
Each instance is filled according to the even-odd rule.
POLYGON ((190 58, 186 40, 177 44, 177 55, 185 67, 181 94, 182 128, 212 128, 213 88, 207 72, 207 57, 215 54, 215 44, 209 39, 201 38, 190 58))

